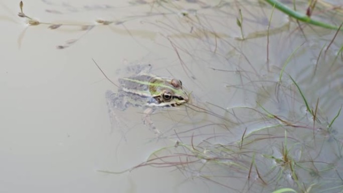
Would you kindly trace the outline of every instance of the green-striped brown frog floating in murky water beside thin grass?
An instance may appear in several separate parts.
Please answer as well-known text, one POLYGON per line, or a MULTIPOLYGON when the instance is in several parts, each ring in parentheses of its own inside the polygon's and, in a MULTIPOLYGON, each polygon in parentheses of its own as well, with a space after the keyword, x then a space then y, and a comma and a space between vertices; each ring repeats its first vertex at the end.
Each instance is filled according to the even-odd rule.
POLYGON ((130 67, 127 71, 140 72, 134 76, 119 78, 118 92, 107 91, 106 98, 110 116, 116 122, 119 121, 115 109, 124 111, 128 107, 142 107, 145 109, 144 123, 157 132, 149 116, 153 110, 185 104, 189 101, 189 95, 180 80, 151 75, 147 73, 150 69, 151 65, 130 67))

